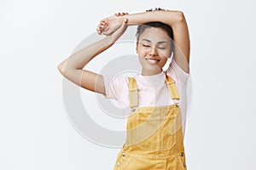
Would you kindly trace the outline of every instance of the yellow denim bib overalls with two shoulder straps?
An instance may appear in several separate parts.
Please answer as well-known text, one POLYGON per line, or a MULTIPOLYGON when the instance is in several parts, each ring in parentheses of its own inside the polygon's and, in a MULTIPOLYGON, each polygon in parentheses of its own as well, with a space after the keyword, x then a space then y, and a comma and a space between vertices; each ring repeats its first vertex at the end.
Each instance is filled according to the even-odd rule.
MULTIPOLYGON (((166 85, 174 101, 179 100, 175 82, 166 76, 166 85)), ((184 170, 181 111, 176 105, 148 106, 137 104, 137 82, 129 77, 131 115, 127 120, 126 141, 119 151, 114 170, 184 170)))

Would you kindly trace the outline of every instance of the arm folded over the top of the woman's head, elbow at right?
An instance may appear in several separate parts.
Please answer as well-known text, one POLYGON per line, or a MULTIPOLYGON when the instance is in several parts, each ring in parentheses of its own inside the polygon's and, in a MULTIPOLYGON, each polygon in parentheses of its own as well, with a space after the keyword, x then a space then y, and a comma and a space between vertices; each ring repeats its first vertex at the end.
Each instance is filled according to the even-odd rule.
MULTIPOLYGON (((155 10, 137 14, 117 14, 119 17, 128 18, 128 26, 141 25, 147 22, 159 21, 165 23, 172 27, 173 31, 173 41, 174 45, 174 54, 173 57, 183 71, 189 72, 189 51, 190 51, 190 42, 189 42, 189 29, 187 22, 185 20, 184 14, 181 11, 176 10, 155 10)), ((106 25, 112 25, 106 30, 102 27, 98 32, 99 34, 108 35, 116 29, 116 24, 119 20, 116 19, 117 16, 108 17, 102 20, 102 23, 106 25)))

